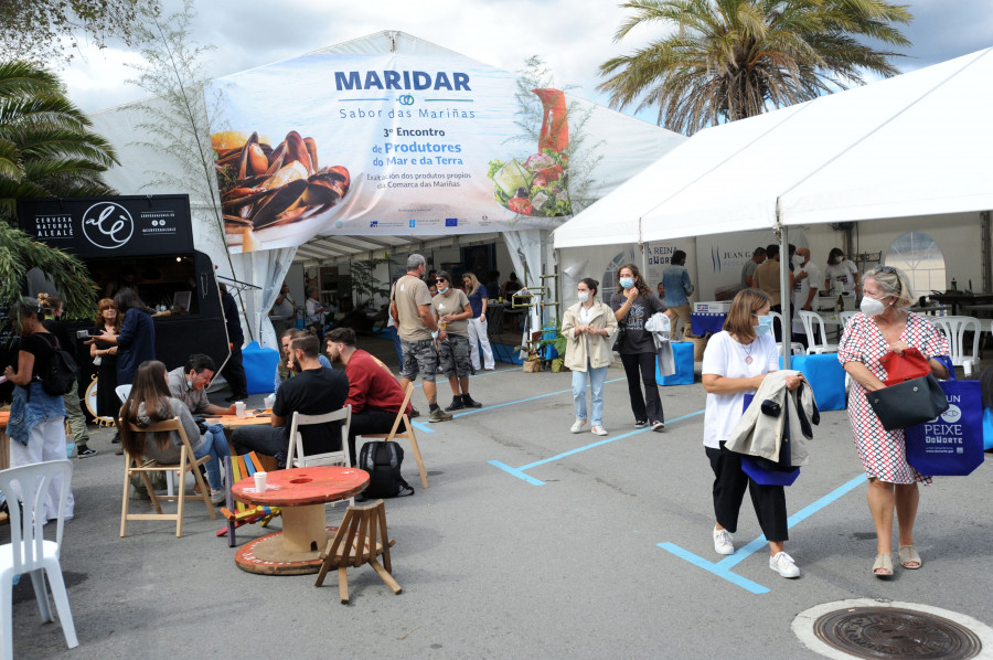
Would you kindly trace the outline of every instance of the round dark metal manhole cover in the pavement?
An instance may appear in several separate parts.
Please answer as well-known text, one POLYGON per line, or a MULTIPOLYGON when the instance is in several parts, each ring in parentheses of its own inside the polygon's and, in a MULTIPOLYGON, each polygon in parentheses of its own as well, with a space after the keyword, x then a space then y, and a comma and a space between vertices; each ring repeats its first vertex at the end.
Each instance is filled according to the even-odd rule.
POLYGON ((828 613, 814 635, 856 658, 962 660, 983 646, 972 630, 923 611, 896 607, 852 607, 828 613))

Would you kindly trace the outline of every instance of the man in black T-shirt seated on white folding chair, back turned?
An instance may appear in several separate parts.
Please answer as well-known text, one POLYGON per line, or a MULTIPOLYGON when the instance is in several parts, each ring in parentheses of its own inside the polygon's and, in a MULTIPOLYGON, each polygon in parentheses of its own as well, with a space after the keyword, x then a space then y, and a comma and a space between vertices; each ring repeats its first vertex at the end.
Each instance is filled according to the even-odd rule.
MULTIPOLYGON (((321 366, 320 344, 313 334, 300 337, 290 344, 288 366, 297 373, 276 392, 273 404, 273 426, 241 426, 231 441, 238 454, 258 451, 275 456, 280 468, 286 467, 293 413, 325 415, 341 409, 349 397, 349 379, 344 373, 321 366)), ((300 428, 303 454, 327 454, 341 449, 341 424, 321 424, 300 428)))

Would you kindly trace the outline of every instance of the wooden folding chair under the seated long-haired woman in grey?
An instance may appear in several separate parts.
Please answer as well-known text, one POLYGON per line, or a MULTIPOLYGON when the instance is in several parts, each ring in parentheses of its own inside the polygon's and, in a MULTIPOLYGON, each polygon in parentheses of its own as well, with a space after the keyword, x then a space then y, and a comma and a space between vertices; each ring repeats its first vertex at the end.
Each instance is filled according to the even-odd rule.
MULTIPOLYGON (((124 419, 120 421, 120 424, 124 425, 124 419)), ((129 426, 131 433, 157 433, 157 432, 177 432, 180 435, 180 438, 183 441, 182 447, 180 447, 180 460, 178 464, 162 464, 154 459, 143 460, 143 457, 140 456, 131 456, 127 451, 125 451, 125 488, 124 488, 124 497, 120 503, 120 535, 125 536, 128 529, 129 520, 174 520, 175 521, 175 535, 177 537, 183 535, 183 508, 186 499, 186 489, 184 488, 184 478, 186 472, 193 472, 193 477, 196 479, 196 483, 200 485, 200 496, 193 496, 194 498, 200 498, 203 500, 203 503, 206 504, 207 512, 211 514, 211 520, 216 520, 217 514, 214 513, 214 505, 211 504, 211 489, 207 487, 206 482, 203 480, 203 475, 200 473, 200 466, 205 464, 211 459, 210 456, 204 456, 203 458, 194 458, 193 457, 193 447, 190 445, 190 438, 186 437, 186 432, 183 430, 183 425, 180 422, 179 417, 173 417, 172 419, 167 419, 164 422, 159 422, 158 424, 152 424, 151 426, 146 426, 145 428, 135 426, 131 424, 129 426), (178 494, 166 494, 166 496, 157 496, 156 489, 152 488, 151 480, 148 478, 149 472, 154 472, 158 470, 171 470, 179 475, 179 488, 177 489, 178 494), (151 498, 152 507, 154 508, 154 513, 128 513, 128 494, 131 486, 131 475, 137 473, 141 477, 141 480, 145 482, 145 488, 148 489, 148 497, 151 498), (162 513, 162 507, 159 505, 159 500, 177 500, 178 507, 175 513, 162 513)))

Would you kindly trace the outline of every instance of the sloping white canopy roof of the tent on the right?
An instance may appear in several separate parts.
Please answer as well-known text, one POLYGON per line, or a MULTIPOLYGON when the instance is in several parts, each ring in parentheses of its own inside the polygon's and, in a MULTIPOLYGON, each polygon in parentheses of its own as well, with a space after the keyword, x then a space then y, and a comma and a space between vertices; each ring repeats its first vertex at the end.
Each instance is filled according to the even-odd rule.
POLYGON ((993 209, 993 49, 708 128, 556 247, 993 209))

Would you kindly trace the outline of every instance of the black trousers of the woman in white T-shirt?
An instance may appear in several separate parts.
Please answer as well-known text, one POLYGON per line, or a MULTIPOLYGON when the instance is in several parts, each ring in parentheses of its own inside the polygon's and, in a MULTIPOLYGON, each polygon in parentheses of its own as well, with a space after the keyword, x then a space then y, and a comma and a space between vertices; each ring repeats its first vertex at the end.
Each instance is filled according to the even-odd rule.
POLYGON ((745 489, 751 496, 751 505, 767 541, 787 541, 789 525, 786 513, 786 491, 782 486, 761 486, 748 478, 741 469, 741 455, 704 447, 714 470, 714 515, 717 523, 730 533, 738 531, 738 513, 745 500, 745 489))

